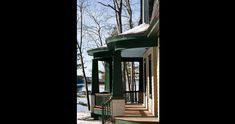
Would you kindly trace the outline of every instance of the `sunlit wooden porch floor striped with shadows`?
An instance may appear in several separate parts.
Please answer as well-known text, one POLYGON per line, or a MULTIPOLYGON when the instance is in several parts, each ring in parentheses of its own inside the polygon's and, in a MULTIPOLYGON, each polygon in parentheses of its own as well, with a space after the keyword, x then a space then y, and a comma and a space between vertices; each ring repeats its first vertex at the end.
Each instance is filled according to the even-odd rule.
POLYGON ((142 104, 126 104, 125 115, 115 117, 115 120, 124 120, 132 122, 159 122, 158 118, 153 116, 142 104))

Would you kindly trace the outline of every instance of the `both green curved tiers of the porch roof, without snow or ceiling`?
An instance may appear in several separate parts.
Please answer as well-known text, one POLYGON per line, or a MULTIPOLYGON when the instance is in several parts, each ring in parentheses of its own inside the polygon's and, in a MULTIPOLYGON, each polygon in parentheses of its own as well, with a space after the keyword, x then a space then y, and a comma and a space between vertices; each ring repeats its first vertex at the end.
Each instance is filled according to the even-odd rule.
POLYGON ((159 18, 154 18, 144 32, 122 34, 106 39, 107 47, 88 50, 88 55, 94 57, 110 57, 113 51, 157 46, 159 37, 159 18))

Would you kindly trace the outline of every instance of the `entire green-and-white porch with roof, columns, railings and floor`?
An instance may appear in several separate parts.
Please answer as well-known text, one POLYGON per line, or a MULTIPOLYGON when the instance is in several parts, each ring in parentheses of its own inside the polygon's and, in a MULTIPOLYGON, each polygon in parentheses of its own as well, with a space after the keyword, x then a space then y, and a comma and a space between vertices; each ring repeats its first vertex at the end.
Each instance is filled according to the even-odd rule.
POLYGON ((158 23, 159 20, 154 18, 145 32, 110 37, 106 39, 106 47, 87 51, 88 55, 94 57, 90 96, 91 116, 94 119, 101 118, 103 124, 111 121, 116 124, 159 122, 157 117, 158 23), (147 52, 150 54, 145 55, 147 52), (99 90, 99 61, 103 61, 105 66, 104 92, 99 90), (132 88, 130 84, 127 85, 124 78, 126 73, 123 71, 126 66, 122 64, 123 62, 138 63, 138 88, 135 87, 135 78, 132 81, 128 80, 132 82, 132 88))

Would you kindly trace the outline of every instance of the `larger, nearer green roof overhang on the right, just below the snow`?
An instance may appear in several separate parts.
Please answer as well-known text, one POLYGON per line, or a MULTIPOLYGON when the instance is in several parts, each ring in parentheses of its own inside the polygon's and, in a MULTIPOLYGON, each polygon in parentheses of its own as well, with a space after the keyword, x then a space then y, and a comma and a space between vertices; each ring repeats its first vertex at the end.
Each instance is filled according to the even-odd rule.
POLYGON ((123 34, 109 37, 106 41, 108 48, 116 51, 130 48, 157 46, 156 41, 158 36, 159 18, 154 18, 146 30, 142 30, 140 32, 127 31, 123 34))

